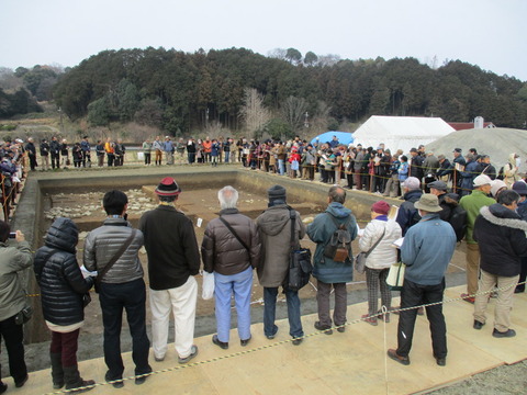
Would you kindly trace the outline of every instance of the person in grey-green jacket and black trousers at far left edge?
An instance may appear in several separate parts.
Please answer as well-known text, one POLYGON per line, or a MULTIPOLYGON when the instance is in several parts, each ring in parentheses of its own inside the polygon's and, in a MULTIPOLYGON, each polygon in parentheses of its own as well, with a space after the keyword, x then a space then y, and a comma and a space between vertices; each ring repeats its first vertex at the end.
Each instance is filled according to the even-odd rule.
MULTIPOLYGON (((16 246, 8 245, 10 227, 0 221, 0 335, 9 356, 9 373, 14 386, 20 388, 27 381, 24 360, 23 325, 16 316, 26 307, 25 291, 19 273, 33 263, 33 253, 22 232, 16 232, 16 246)), ((0 374, 0 393, 8 390, 0 374)))

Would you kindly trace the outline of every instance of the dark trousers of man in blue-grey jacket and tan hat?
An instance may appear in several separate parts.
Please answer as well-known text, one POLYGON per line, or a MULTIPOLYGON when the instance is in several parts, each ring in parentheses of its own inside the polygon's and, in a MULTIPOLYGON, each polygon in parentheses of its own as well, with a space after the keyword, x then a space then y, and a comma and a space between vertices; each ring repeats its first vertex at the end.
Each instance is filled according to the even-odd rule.
MULTIPOLYGON (((419 285, 412 281, 404 280, 401 291, 401 308, 418 306, 422 304, 442 302, 445 291, 445 279, 440 284, 419 285)), ((426 307, 426 316, 430 324, 431 348, 435 358, 447 357, 447 325, 442 315, 442 304, 426 307)), ((415 318, 417 308, 401 312, 397 327, 397 354, 408 357, 414 337, 415 318)))

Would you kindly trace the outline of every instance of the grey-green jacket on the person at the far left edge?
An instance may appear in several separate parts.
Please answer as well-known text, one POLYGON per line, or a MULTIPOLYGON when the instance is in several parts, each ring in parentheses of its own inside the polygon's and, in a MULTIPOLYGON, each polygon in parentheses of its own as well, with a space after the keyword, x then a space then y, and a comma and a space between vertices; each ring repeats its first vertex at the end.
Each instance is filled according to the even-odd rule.
POLYGON ((25 307, 25 292, 19 273, 33 263, 27 241, 16 247, 0 242, 0 321, 25 307))

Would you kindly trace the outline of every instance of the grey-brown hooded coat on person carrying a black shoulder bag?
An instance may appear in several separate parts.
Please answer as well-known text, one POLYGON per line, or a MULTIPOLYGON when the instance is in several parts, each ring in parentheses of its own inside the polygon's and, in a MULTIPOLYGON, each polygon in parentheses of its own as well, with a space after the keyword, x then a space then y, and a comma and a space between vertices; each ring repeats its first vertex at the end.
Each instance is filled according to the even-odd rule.
MULTIPOLYGON (((294 239, 296 244, 305 236, 305 225, 295 212, 294 239)), ((256 226, 261 239, 261 263, 258 266, 258 280, 261 286, 282 285, 289 270, 291 250, 291 218, 287 204, 277 204, 267 208, 258 218, 256 226)))

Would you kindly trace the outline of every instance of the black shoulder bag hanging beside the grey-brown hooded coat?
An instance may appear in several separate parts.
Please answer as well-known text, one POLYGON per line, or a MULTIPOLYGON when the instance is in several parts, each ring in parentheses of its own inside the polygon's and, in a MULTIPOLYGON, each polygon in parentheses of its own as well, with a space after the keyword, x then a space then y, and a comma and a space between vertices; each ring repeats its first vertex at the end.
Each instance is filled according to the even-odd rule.
POLYGON ((291 251, 284 287, 291 291, 299 291, 310 282, 313 266, 311 264, 311 250, 309 248, 298 248, 294 241, 296 212, 289 206, 288 210, 291 218, 291 251))

